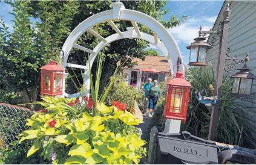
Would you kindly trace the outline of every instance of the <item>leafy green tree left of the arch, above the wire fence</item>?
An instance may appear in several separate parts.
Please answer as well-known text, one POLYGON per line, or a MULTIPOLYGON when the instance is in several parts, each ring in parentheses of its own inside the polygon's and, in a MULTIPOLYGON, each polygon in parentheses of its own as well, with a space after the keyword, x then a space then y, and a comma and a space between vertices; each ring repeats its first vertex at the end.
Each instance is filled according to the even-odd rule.
POLYGON ((57 11, 53 6, 58 5, 58 1, 40 1, 37 11, 40 21, 34 25, 30 21, 30 1, 7 3, 13 7, 10 14, 15 20, 13 33, 7 31, 4 22, 0 26, 0 92, 8 95, 22 91, 25 103, 34 102, 40 89, 39 68, 51 59, 57 60, 62 40, 70 32, 78 2, 67 1, 57 11))

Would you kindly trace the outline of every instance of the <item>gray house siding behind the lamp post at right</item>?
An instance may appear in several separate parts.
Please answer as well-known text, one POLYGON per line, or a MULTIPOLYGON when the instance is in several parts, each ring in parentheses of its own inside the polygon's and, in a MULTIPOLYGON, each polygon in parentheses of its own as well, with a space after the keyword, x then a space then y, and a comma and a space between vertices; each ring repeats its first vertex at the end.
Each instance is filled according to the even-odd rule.
MULTIPOLYGON (((245 58, 245 54, 249 52, 248 67, 256 67, 256 1, 225 1, 222 10, 215 22, 213 30, 218 30, 220 26, 218 22, 223 20, 223 11, 226 8, 226 4, 229 3, 229 9, 231 10, 231 22, 229 23, 229 35, 228 35, 228 48, 230 51, 228 54, 231 57, 237 55, 238 58, 245 58)), ((207 30, 205 30, 207 31, 207 30)), ((208 42, 210 39, 208 39, 208 42)), ((206 53, 206 63, 211 63, 215 72, 217 71, 218 52, 219 52, 219 38, 214 43, 214 48, 209 49, 206 53)), ((234 63, 233 61, 226 60, 226 68, 228 64, 234 63)), ((243 64, 238 65, 237 69, 243 67, 243 64)), ((233 75, 238 72, 234 70, 231 73, 226 74, 233 75)), ((252 73, 256 75, 256 69, 252 70, 252 73)), ((254 86, 252 92, 256 93, 256 80, 254 80, 254 86)), ((252 127, 256 128, 256 96, 251 98, 240 99, 241 106, 246 108, 246 117, 252 122, 252 127)), ((255 131, 256 135, 256 131, 255 131)))

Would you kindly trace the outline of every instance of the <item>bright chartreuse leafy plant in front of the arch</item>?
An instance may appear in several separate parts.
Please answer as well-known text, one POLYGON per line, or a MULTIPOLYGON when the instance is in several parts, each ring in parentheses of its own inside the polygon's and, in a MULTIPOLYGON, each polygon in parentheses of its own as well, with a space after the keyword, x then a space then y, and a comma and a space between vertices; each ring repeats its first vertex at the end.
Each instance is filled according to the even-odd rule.
POLYGON ((98 102, 93 116, 90 108, 78 112, 68 105, 74 99, 42 99, 45 111, 27 119, 30 128, 20 134, 20 142, 34 140, 27 157, 41 151, 53 164, 138 164, 146 156, 134 127, 142 120, 130 112, 98 102))

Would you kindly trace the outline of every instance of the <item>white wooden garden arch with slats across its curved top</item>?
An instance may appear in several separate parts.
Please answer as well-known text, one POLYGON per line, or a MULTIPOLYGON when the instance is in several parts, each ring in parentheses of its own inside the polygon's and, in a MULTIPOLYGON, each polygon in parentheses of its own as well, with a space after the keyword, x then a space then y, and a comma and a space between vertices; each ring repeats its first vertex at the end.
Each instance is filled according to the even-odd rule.
MULTIPOLYGON (((90 66, 92 66, 93 61, 97 57, 97 54, 99 54, 99 52, 108 43, 111 43, 120 39, 129 38, 129 39, 146 40, 149 43, 152 43, 153 45, 155 45, 157 48, 159 48, 160 51, 162 51, 165 57, 167 58, 169 66, 171 68, 171 72, 173 73, 174 70, 172 70, 172 66, 174 66, 177 63, 178 58, 180 58, 182 62, 183 60, 182 60, 182 55, 180 54, 179 47, 177 46, 177 43, 175 42, 175 40, 173 39, 169 31, 153 17, 150 17, 139 11, 126 9, 122 4, 122 2, 112 2, 111 5, 113 7, 113 10, 107 10, 101 13, 94 14, 93 16, 88 17, 79 25, 77 25, 76 28, 74 28, 74 30, 70 33, 70 36, 68 36, 67 40, 62 46, 62 52, 60 55, 60 57, 63 59, 62 65, 64 67, 76 67, 80 69, 85 69, 85 72, 83 74, 84 86, 86 86, 87 88, 90 88, 90 80, 88 75, 88 66, 89 66, 88 63, 90 62, 90 66), (133 27, 128 27, 126 28, 127 31, 121 32, 117 28, 117 26, 113 23, 113 20, 129 20, 131 21, 133 27), (100 34, 98 34, 96 31, 93 31, 91 28, 94 25, 97 25, 99 23, 106 22, 106 21, 112 26, 113 30, 116 31, 116 34, 108 36, 107 38, 103 38, 102 36, 100 36, 100 34), (148 26, 154 32, 154 36, 140 32, 139 27, 137 26, 137 22, 145 26, 148 26), (85 48, 83 46, 76 44, 76 41, 79 39, 79 37, 82 36, 82 34, 84 34, 86 31, 90 34, 93 34, 93 36, 101 40, 101 42, 93 50, 90 50, 88 48, 85 48), (89 60, 87 61, 86 66, 67 63, 68 55, 70 54, 70 51, 72 48, 80 49, 82 51, 90 53, 90 57, 89 57, 89 60)), ((180 72, 184 73, 183 66, 180 67, 180 72)), ((65 87, 66 77, 67 77, 67 73, 65 73, 64 75, 63 87, 65 87)), ((72 98, 72 97, 78 97, 80 96, 80 94, 76 93, 74 95, 69 95, 68 93, 64 92, 64 96, 67 96, 68 98, 72 98)))

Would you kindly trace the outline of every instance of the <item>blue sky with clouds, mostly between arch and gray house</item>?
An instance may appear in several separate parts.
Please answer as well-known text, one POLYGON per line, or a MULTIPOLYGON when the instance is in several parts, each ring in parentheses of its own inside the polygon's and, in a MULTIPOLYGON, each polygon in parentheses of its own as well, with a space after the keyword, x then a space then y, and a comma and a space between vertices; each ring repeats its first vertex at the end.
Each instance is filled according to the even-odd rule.
MULTIPOLYGON (((198 36, 200 25, 203 30, 208 31, 214 25, 214 22, 220 12, 220 9, 224 1, 168 1, 166 7, 169 9, 169 13, 164 17, 165 20, 171 19, 172 16, 182 17, 188 16, 188 19, 182 23, 182 25, 169 29, 170 33, 179 45, 180 52, 182 52, 184 63, 188 63, 189 50, 186 49, 193 39, 198 36)), ((10 5, 0 2, 0 16, 5 21, 5 24, 10 27, 10 31, 13 31, 11 25, 14 16, 8 14, 12 11, 10 5)), ((34 19, 32 19, 33 21, 34 19)), ((153 49, 157 49, 151 46, 153 49)), ((157 49, 157 51, 159 51, 157 49)), ((159 51, 160 52, 160 51, 159 51)), ((160 52, 162 54, 162 52, 160 52)))

